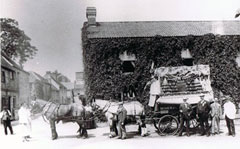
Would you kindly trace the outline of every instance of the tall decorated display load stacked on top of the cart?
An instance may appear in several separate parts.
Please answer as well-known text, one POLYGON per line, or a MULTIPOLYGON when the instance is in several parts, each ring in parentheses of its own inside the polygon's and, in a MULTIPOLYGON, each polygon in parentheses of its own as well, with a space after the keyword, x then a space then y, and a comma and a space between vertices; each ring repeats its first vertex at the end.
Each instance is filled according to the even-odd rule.
POLYGON ((180 104, 184 97, 196 104, 200 95, 205 95, 206 100, 213 98, 209 65, 159 67, 155 74, 160 80, 157 103, 180 104))

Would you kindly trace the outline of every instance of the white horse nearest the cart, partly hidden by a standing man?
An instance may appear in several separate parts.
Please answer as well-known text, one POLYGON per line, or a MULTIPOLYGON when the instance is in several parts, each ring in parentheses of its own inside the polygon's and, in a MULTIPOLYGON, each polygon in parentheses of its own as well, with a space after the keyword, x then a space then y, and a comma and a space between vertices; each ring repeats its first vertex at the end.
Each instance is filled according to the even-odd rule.
MULTIPOLYGON (((119 103, 118 102, 109 102, 106 100, 96 100, 95 103, 99 108, 102 109, 104 115, 107 119, 107 123, 110 128, 109 138, 116 137, 118 135, 117 131, 117 110, 119 103)), ((141 136, 147 135, 147 128, 144 123, 145 110, 144 106, 138 101, 128 101, 124 102, 123 106, 127 110, 127 119, 130 117, 136 120, 138 127, 138 132, 141 136)))

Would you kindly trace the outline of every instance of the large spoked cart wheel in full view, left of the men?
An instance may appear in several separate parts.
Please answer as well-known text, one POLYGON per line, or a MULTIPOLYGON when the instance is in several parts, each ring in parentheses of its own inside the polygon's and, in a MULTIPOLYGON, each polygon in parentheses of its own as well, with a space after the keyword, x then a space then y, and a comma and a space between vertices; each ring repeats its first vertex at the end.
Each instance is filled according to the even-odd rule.
POLYGON ((165 115, 161 117, 158 122, 158 130, 160 135, 175 135, 179 129, 179 122, 176 117, 172 115, 165 115))

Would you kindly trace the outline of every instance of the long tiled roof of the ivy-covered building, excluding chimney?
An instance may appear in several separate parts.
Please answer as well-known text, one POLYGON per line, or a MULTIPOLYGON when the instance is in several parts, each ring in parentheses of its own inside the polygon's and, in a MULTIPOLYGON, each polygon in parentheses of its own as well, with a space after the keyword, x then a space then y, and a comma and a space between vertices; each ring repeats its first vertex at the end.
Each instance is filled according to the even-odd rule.
POLYGON ((88 38, 240 35, 240 21, 97 22, 97 26, 89 26, 87 31, 88 38))

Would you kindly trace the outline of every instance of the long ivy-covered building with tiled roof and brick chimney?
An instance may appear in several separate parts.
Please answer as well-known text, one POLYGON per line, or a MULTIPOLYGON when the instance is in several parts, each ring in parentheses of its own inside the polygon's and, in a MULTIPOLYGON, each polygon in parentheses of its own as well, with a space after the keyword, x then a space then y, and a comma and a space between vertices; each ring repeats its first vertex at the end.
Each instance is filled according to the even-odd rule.
POLYGON ((239 20, 97 22, 94 7, 86 16, 82 48, 89 99, 144 101, 152 67, 207 64, 214 91, 240 100, 239 20))

